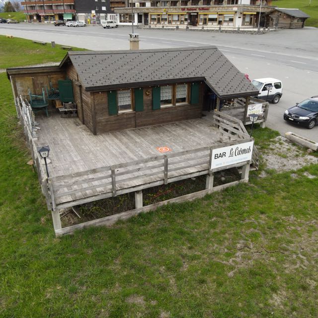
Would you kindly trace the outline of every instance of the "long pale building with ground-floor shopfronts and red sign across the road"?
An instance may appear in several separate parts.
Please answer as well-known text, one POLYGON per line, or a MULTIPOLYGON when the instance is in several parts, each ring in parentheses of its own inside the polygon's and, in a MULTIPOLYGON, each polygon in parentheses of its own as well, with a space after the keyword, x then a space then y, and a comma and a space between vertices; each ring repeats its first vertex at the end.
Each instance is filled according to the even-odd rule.
POLYGON ((116 8, 120 24, 178 27, 265 26, 272 0, 127 0, 116 8), (133 14, 132 7, 133 6, 133 14))

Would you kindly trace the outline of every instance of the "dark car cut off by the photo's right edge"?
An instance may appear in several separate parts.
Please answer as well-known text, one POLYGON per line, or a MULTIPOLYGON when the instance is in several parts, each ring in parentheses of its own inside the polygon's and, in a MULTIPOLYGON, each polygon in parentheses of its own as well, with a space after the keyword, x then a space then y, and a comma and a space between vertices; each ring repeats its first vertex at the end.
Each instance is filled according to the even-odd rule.
POLYGON ((318 123, 318 96, 305 99, 285 110, 284 119, 312 129, 318 123))

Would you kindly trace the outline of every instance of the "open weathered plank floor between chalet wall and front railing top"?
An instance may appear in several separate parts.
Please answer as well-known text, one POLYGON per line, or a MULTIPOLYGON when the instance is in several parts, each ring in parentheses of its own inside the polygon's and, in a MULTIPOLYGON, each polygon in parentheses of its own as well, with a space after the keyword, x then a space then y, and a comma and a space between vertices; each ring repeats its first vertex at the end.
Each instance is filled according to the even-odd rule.
POLYGON ((50 176, 160 156, 157 147, 177 153, 218 144, 219 131, 209 116, 177 123, 94 136, 78 118, 38 117, 36 146, 50 146, 50 176))

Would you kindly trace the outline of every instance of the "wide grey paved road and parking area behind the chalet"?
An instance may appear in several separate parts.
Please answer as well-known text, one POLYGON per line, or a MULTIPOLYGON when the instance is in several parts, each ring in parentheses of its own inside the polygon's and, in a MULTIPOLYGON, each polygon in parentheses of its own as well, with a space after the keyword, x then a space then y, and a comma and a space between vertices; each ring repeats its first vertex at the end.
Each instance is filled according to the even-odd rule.
MULTIPOLYGON (((50 24, 1 24, 0 34, 91 50, 128 49, 131 28, 103 29, 55 27, 50 24)), ((138 29, 140 48, 216 45, 251 79, 274 77, 283 81, 281 101, 271 104, 267 126, 281 134, 292 131, 318 141, 318 126, 312 130, 285 122, 284 111, 305 98, 318 95, 318 29, 281 30, 264 35, 224 34, 198 31, 138 29)))

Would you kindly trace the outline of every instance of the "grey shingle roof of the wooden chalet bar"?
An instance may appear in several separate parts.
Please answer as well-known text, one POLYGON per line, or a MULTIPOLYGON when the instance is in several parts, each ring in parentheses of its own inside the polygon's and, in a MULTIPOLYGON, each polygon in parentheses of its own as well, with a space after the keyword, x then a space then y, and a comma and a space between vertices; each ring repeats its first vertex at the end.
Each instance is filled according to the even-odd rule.
MULTIPOLYGON (((107 90, 205 80, 219 97, 257 94, 257 89, 214 46, 127 51, 69 52, 86 90, 107 90)), ((68 60, 65 58, 63 64, 68 60)))

